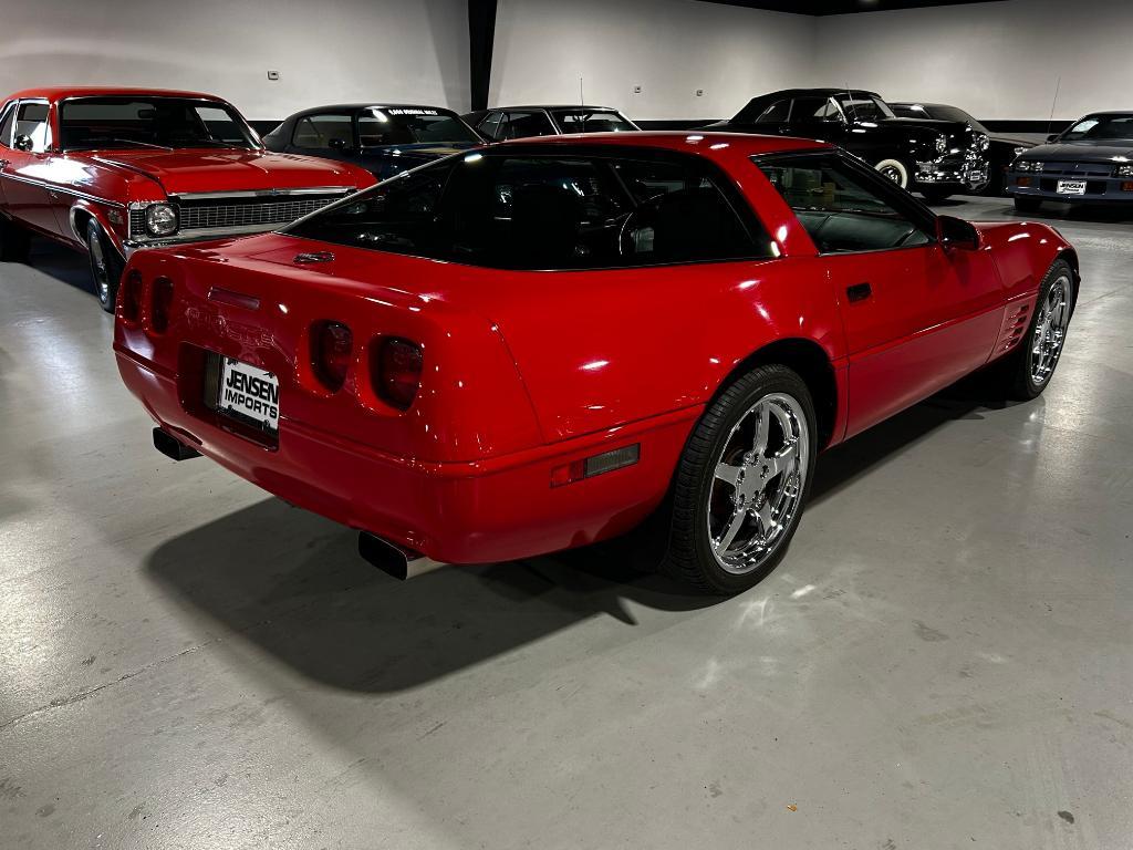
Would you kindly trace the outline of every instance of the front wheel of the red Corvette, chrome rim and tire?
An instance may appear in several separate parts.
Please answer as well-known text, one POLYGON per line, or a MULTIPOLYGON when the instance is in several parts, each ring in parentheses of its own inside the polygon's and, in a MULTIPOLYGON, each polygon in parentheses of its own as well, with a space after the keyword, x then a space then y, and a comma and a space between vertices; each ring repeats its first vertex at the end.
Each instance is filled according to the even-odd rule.
POLYGON ((1039 287, 1026 333, 998 365, 1006 398, 1030 401, 1047 389, 1062 357, 1073 311, 1074 272, 1065 260, 1056 260, 1039 287))

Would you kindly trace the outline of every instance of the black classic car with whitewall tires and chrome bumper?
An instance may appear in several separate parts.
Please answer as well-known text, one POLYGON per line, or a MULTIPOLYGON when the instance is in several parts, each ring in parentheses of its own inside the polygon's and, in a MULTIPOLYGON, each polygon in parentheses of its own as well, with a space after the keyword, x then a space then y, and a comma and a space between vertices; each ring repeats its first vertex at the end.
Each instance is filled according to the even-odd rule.
POLYGON ((753 97, 731 120, 709 127, 832 142, 929 201, 943 201, 987 180, 987 134, 964 121, 897 118, 874 92, 772 92, 753 97))

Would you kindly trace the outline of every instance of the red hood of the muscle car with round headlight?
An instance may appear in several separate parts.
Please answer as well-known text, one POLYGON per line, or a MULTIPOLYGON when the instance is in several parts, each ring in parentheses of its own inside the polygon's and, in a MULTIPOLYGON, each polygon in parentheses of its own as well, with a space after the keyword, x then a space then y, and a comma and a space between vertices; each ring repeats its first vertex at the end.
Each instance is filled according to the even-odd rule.
POLYGON ((105 151, 94 159, 152 178, 168 195, 358 186, 344 163, 266 151, 105 151))

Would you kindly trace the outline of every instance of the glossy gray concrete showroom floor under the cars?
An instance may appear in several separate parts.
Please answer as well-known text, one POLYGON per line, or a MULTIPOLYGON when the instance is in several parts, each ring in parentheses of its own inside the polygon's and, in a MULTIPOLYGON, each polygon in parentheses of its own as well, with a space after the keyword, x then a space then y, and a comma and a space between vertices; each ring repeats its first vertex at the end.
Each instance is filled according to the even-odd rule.
POLYGON ((616 549, 398 584, 151 448, 80 258, 0 266, 0 847, 1127 849, 1133 221, 1055 220, 1047 394, 828 453, 710 604, 616 549))

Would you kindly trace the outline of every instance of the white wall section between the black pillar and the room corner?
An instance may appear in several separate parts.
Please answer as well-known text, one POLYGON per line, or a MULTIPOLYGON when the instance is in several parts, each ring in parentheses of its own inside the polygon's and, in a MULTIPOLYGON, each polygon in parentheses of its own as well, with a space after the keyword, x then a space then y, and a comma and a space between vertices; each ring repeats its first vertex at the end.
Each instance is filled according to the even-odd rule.
POLYGON ((697 0, 499 0, 488 103, 578 103, 582 76, 587 103, 631 118, 730 117, 808 85, 815 33, 807 16, 697 0))

